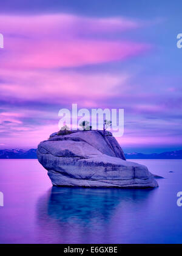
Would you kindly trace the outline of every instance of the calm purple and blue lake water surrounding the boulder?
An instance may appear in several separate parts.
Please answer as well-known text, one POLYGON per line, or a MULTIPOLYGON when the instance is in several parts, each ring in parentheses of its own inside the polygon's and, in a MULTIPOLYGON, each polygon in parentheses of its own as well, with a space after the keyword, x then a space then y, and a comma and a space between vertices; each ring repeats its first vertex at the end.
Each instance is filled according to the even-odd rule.
POLYGON ((36 159, 0 160, 0 243, 182 243, 182 160, 132 161, 160 187, 57 188, 36 159))

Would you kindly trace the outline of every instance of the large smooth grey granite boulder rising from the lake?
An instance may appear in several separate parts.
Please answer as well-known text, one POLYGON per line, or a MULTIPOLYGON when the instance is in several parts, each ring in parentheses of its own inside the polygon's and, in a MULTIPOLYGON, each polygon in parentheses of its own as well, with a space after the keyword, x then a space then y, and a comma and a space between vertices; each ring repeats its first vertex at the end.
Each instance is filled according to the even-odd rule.
POLYGON ((103 131, 73 131, 38 145, 38 161, 53 185, 81 187, 157 187, 144 165, 126 161, 123 150, 103 131))

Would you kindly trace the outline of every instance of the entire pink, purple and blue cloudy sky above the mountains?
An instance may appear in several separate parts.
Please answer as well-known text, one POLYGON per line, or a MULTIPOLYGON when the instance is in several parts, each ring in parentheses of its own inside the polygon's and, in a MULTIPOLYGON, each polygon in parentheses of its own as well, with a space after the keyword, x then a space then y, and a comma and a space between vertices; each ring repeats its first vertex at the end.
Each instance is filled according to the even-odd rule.
POLYGON ((59 109, 123 108, 126 153, 182 149, 182 2, 0 4, 0 148, 36 148, 59 109))

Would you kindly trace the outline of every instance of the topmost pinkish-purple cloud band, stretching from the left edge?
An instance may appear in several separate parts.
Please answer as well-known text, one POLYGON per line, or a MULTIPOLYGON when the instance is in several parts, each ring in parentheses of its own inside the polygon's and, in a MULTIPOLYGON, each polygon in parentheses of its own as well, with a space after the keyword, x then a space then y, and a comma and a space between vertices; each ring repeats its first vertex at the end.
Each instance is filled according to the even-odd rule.
POLYGON ((41 37, 53 36, 77 36, 80 33, 93 32, 120 32, 129 29, 137 29, 143 23, 134 19, 123 17, 89 18, 84 16, 59 13, 54 15, 1 15, 1 32, 17 35, 29 35, 41 37))

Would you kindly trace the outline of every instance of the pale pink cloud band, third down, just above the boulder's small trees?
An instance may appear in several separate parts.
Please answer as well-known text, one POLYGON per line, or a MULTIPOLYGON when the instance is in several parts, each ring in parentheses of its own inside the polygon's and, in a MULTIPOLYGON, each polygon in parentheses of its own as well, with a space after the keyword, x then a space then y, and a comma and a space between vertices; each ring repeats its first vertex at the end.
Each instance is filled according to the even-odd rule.
POLYGON ((70 102, 82 97, 84 106, 94 106, 98 99, 111 97, 129 88, 128 74, 82 74, 69 71, 16 71, 0 69, 0 76, 8 81, 1 83, 1 97, 23 100, 47 100, 54 103, 67 98, 70 102), (32 90, 32 85, 35 89, 32 90), (99 85, 99 86, 98 86, 99 85), (86 102, 84 102, 84 99, 86 102), (87 99, 90 99, 87 101, 87 99))

